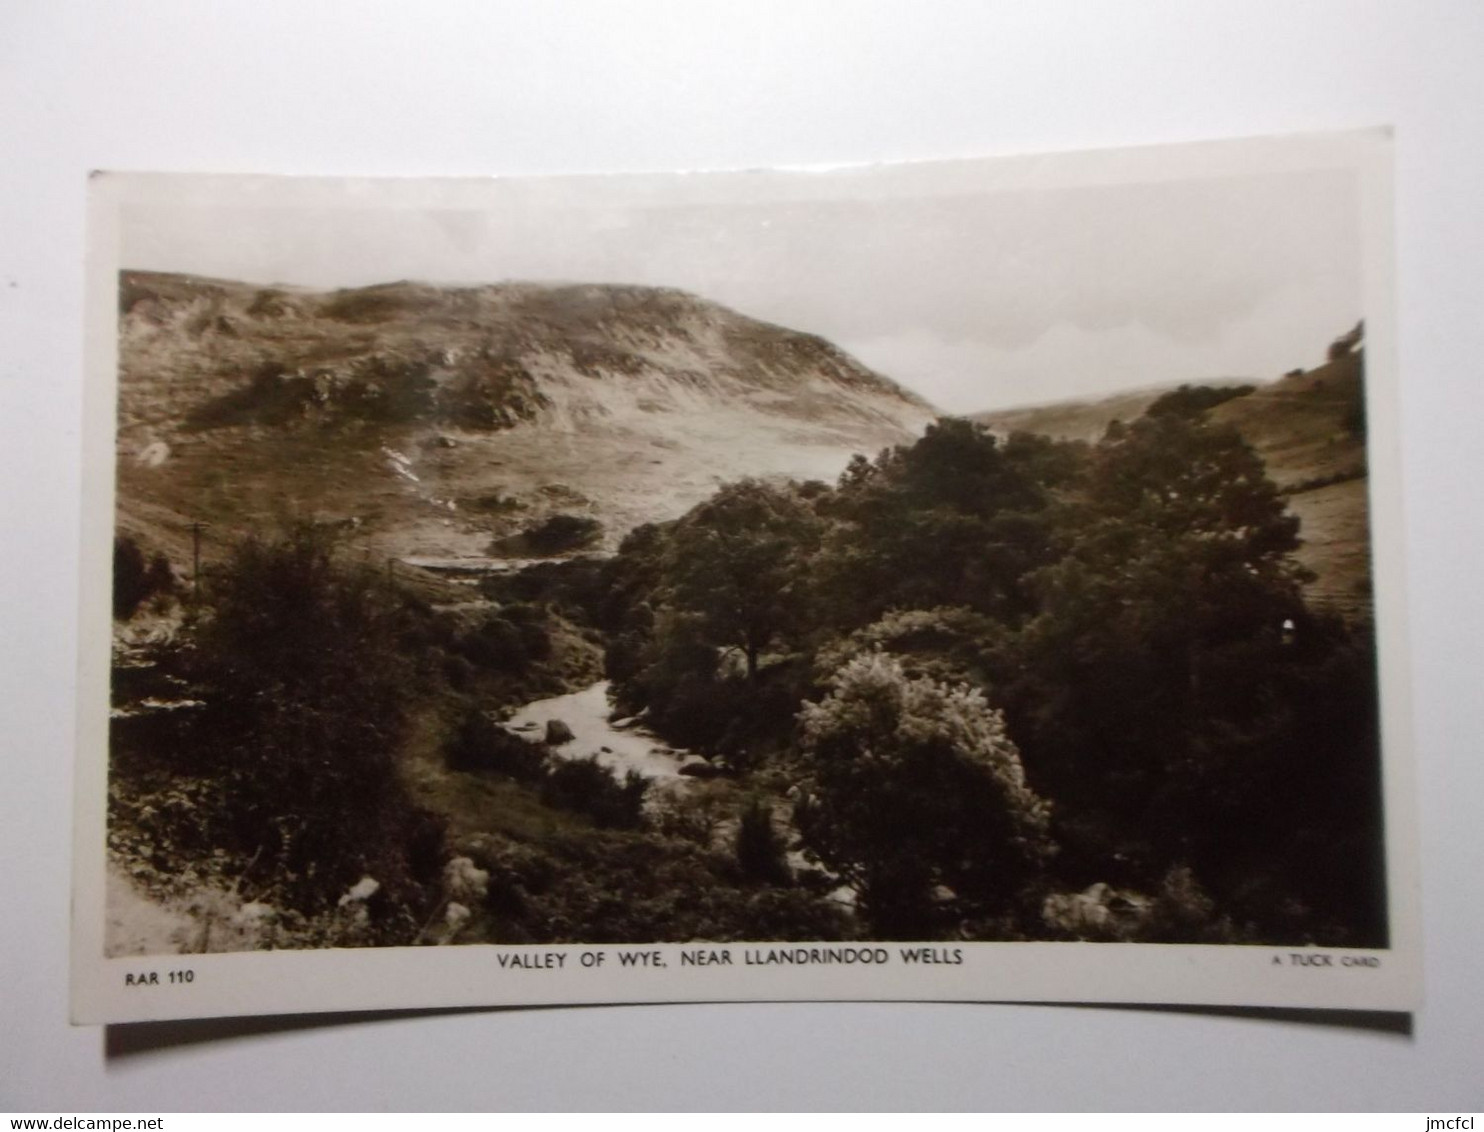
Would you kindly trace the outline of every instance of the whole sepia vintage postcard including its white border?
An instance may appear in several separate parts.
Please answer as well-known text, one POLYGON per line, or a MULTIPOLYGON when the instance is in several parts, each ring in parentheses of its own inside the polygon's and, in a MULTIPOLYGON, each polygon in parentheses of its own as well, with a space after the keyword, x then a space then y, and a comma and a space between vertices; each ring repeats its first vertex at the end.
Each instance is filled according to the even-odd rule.
POLYGON ((1411 1009, 1391 209, 95 174, 74 1021, 1411 1009))

